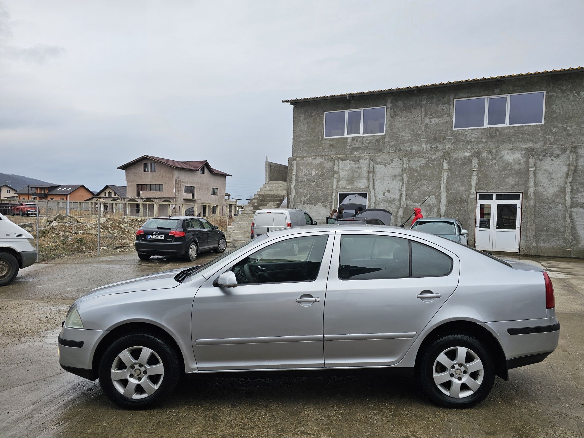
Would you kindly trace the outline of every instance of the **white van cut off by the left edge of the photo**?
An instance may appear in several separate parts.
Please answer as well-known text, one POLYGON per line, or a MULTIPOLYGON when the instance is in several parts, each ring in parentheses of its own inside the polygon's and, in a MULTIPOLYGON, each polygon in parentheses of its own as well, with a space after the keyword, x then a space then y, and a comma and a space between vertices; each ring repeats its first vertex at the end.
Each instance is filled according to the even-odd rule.
POLYGON ((0 286, 12 283, 19 269, 36 261, 33 243, 32 234, 0 214, 0 286))

